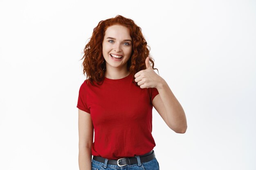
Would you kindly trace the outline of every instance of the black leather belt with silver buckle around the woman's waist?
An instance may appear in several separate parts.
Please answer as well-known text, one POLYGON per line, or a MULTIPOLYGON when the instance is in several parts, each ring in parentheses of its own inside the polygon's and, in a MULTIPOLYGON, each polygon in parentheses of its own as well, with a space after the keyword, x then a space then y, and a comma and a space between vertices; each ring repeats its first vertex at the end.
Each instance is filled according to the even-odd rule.
MULTIPOLYGON (((152 159, 155 158, 155 152, 154 150, 151 150, 150 152, 144 154, 144 155, 140 155, 140 162, 147 162, 150 161, 152 159)), ((105 158, 103 157, 99 157, 99 156, 93 156, 93 158, 95 161, 101 162, 101 163, 105 163, 105 158)), ((120 159, 108 159, 108 164, 111 165, 118 165, 118 166, 126 166, 126 165, 130 165, 133 163, 138 163, 137 157, 126 157, 126 158, 120 158, 120 159)))

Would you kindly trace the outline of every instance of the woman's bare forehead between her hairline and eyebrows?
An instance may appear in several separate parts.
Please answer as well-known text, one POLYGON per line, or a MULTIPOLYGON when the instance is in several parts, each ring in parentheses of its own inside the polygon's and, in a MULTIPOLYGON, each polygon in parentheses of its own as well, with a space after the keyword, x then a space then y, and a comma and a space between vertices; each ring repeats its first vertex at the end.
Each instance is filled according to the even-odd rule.
POLYGON ((109 26, 105 31, 104 38, 106 38, 106 37, 113 37, 113 38, 116 38, 116 39, 131 38, 129 29, 127 27, 121 26, 121 25, 109 26))

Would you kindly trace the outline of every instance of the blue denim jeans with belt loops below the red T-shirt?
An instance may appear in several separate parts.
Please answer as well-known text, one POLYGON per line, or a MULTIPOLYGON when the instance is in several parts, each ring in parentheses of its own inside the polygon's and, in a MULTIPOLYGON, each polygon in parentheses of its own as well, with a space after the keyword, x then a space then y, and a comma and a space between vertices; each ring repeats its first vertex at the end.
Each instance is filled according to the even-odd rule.
POLYGON ((137 161, 138 163, 119 167, 118 165, 107 164, 107 159, 105 160, 105 163, 92 159, 92 170, 159 170, 159 163, 156 158, 141 163, 140 157, 137 156, 137 161))

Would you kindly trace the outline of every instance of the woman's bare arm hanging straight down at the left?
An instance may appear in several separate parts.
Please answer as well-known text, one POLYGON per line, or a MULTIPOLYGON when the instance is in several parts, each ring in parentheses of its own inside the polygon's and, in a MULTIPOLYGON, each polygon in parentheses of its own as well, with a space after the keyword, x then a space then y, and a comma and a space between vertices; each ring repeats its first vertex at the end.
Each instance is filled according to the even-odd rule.
POLYGON ((78 109, 79 170, 92 169, 93 130, 90 113, 78 109))

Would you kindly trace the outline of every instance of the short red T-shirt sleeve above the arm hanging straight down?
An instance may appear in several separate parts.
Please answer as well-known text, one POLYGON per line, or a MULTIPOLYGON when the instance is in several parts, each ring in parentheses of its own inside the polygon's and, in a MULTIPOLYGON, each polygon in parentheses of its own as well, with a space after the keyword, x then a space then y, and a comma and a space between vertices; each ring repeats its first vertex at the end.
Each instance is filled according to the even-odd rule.
POLYGON ((90 113, 90 109, 87 107, 87 94, 86 94, 86 82, 80 86, 78 101, 76 107, 82 111, 90 113))

